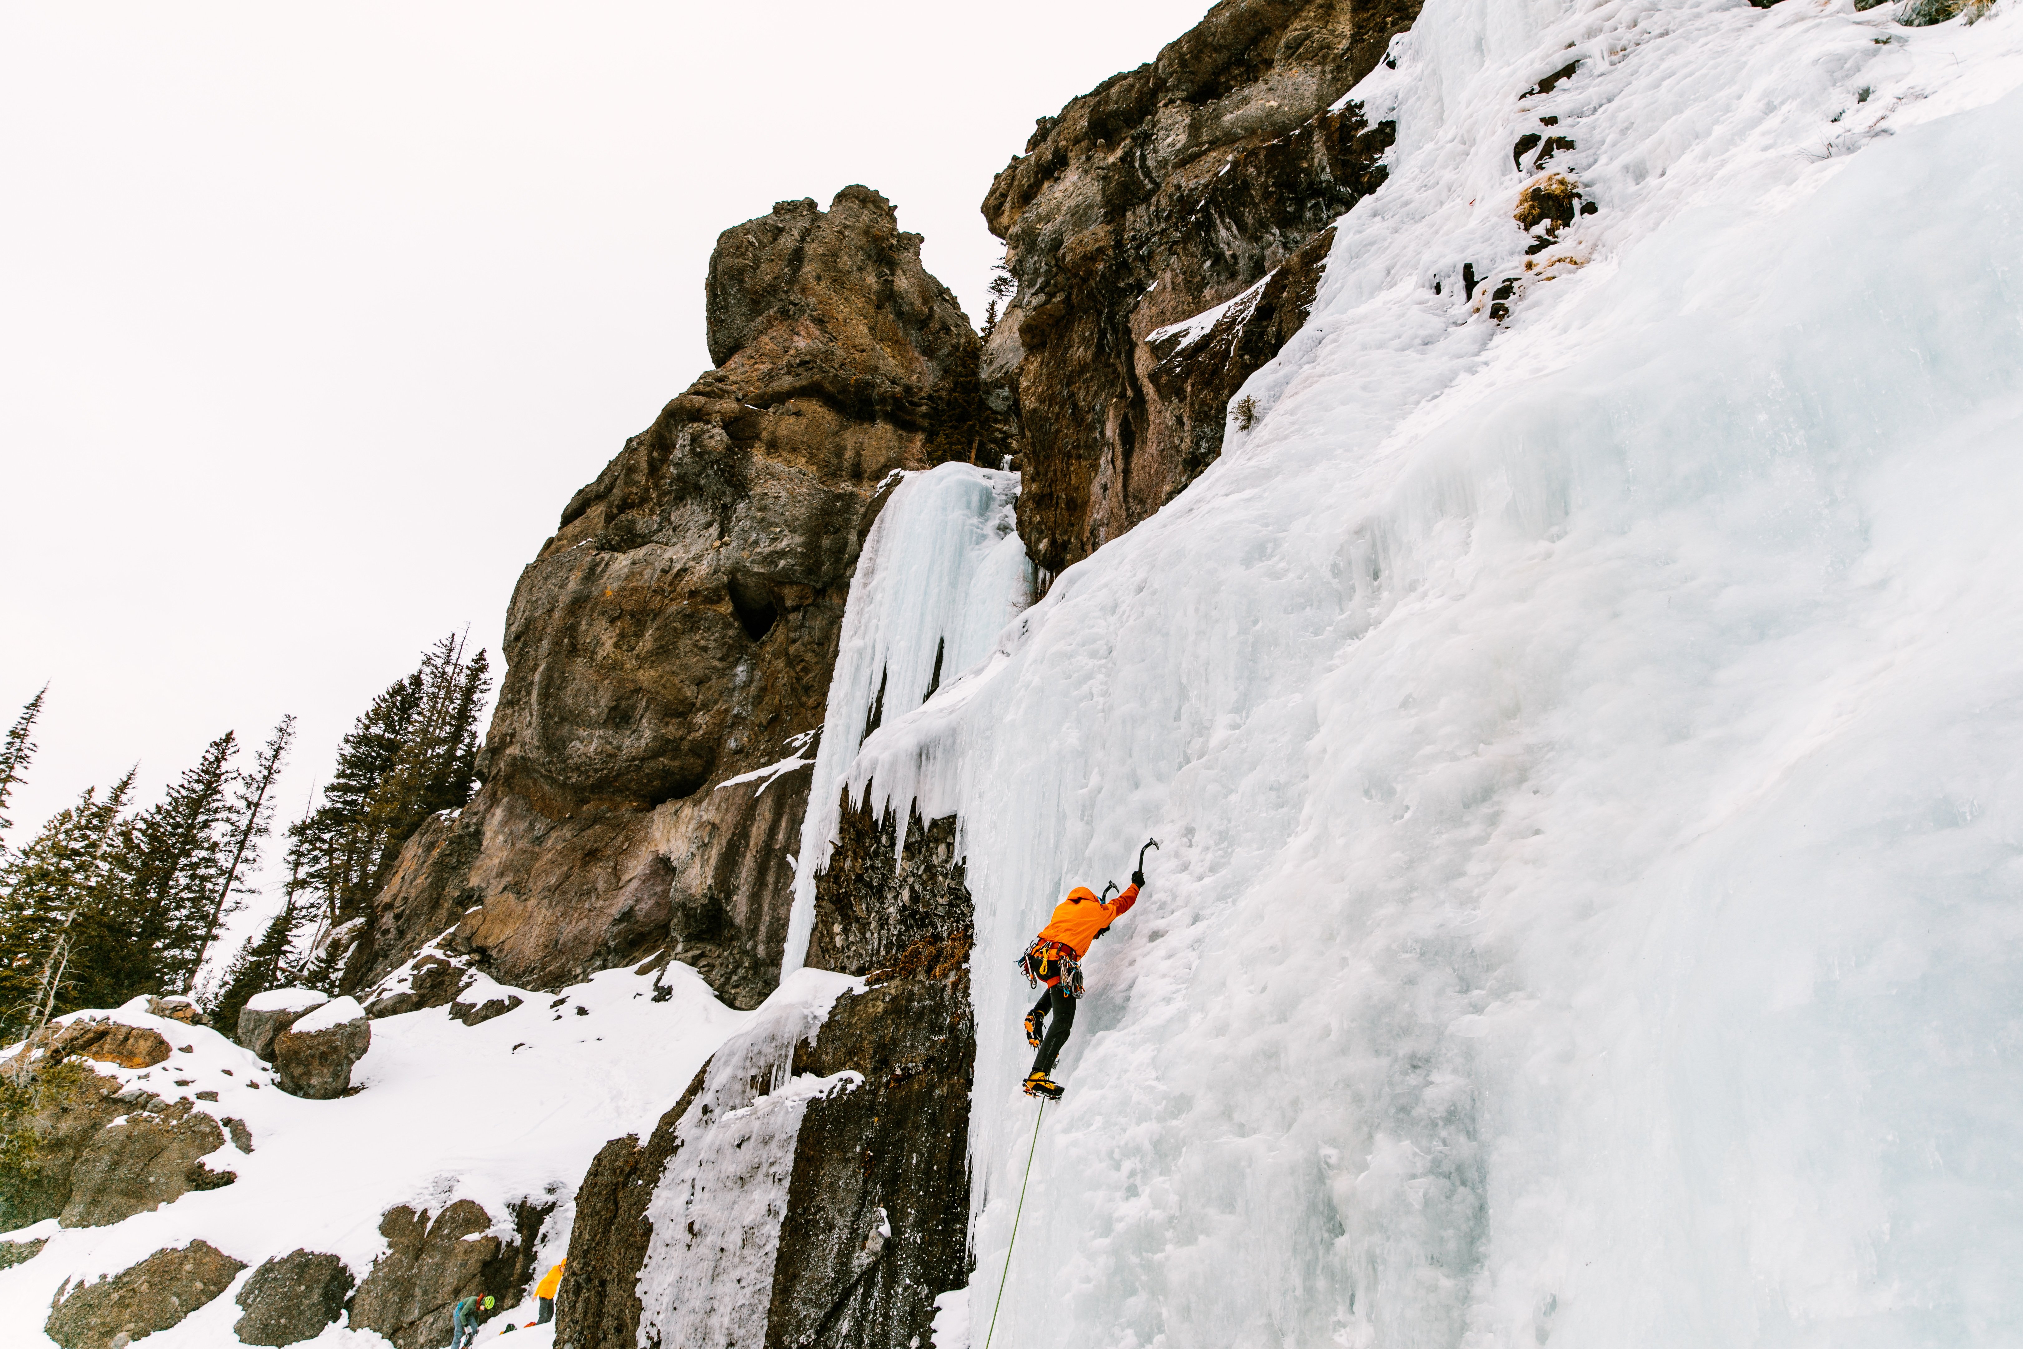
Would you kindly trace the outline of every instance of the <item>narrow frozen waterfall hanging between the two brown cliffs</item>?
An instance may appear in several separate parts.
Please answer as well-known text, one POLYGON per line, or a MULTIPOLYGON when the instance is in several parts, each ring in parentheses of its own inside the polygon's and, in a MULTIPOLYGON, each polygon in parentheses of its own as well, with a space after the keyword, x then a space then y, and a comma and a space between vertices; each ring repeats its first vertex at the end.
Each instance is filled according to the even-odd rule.
POLYGON ((1032 603, 1034 572, 1016 532, 1016 506, 1018 473, 945 463, 902 473, 864 538, 801 823, 783 975, 807 959, 815 872, 829 860, 844 771, 872 714, 918 708, 937 680, 949 684, 983 659, 1003 625, 1032 603))

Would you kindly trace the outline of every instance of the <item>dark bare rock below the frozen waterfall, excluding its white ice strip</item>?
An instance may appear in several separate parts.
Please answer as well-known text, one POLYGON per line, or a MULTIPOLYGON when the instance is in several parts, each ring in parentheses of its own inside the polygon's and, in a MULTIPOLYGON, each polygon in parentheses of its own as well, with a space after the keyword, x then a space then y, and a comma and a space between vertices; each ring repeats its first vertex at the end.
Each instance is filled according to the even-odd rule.
MULTIPOLYGON (((684 1185, 684 1127, 698 1147, 708 1129, 751 1131, 769 1114, 795 1131, 716 1151, 789 1157, 771 1276, 759 1270, 771 1288, 767 1349, 920 1345, 935 1296, 967 1282, 973 910, 949 847, 955 821, 925 829, 914 821, 904 868, 892 864, 894 823, 846 813, 817 906, 831 963, 870 975, 872 987, 838 999, 791 1058, 793 1074, 856 1072, 862 1082, 793 1114, 769 1108, 765 1078, 712 1082, 706 1066, 643 1145, 607 1143, 577 1191, 556 1345, 639 1343, 639 1278, 655 1238, 647 1209, 664 1185, 684 1185), (710 1110, 724 1122, 712 1125, 710 1110), (878 1236, 880 1224, 890 1240, 878 1236)), ((736 1042, 724 1046, 712 1066, 740 1062, 736 1042)), ((720 1209, 740 1179, 706 1173, 698 1193, 720 1209)), ((688 1230, 690 1240, 708 1236, 688 1230)), ((698 1248, 690 1258, 710 1254, 698 1248)))

